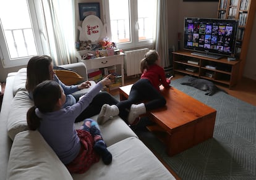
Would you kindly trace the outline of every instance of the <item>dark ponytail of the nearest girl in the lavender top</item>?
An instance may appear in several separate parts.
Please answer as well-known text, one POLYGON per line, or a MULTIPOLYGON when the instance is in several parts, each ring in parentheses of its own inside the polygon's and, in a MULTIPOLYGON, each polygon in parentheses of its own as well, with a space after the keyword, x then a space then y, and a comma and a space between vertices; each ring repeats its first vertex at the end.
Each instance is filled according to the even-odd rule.
POLYGON ((35 113, 36 107, 31 107, 27 112, 27 124, 28 129, 35 131, 40 126, 40 120, 41 118, 38 118, 38 116, 35 113))

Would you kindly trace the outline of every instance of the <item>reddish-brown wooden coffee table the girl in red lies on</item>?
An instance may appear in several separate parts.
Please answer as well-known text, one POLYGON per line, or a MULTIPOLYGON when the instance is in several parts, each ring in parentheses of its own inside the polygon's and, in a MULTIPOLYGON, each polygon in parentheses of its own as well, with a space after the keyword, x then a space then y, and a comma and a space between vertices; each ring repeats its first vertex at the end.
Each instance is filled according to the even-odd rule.
MULTIPOLYGON (((120 100, 129 97, 132 84, 119 88, 120 100)), ((151 110, 148 117, 161 131, 167 153, 173 156, 213 137, 216 110, 176 88, 160 87, 166 106, 151 110)))

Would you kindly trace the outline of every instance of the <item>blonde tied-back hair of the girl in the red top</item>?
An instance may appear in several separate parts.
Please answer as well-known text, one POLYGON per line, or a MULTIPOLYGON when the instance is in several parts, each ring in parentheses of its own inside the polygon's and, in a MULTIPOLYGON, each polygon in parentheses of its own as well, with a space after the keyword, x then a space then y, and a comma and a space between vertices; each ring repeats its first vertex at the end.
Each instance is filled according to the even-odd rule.
POLYGON ((150 65, 155 64, 155 62, 158 60, 159 54, 155 50, 148 51, 144 58, 140 61, 140 72, 144 72, 144 70, 147 70, 150 65))

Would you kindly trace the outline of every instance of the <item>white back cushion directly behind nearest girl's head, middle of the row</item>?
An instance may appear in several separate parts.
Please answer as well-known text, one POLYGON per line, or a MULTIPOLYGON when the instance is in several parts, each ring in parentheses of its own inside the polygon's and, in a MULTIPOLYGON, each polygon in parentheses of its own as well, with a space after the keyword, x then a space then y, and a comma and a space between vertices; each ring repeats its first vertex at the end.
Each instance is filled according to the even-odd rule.
POLYGON ((12 99, 12 110, 7 119, 8 136, 12 140, 14 140, 17 133, 28 129, 27 111, 33 105, 33 100, 28 97, 27 91, 18 91, 14 99, 12 99))

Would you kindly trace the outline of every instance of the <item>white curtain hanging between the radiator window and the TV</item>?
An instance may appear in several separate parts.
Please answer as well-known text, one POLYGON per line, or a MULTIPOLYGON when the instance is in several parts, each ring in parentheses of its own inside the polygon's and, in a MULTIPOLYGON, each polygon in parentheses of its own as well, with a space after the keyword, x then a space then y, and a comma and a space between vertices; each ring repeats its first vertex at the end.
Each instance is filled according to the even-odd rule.
POLYGON ((157 0, 156 31, 154 49, 158 51, 162 67, 170 65, 168 55, 168 14, 167 0, 157 0))

